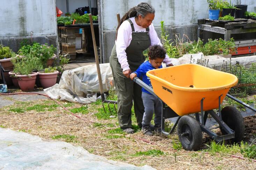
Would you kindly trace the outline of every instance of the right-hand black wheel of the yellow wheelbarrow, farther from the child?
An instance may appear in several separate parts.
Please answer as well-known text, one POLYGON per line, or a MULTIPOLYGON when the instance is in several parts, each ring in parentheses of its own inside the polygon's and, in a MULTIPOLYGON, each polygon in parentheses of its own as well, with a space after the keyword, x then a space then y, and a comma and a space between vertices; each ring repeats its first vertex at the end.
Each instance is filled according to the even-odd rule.
MULTIPOLYGON (((244 122, 243 116, 239 110, 233 106, 226 106, 221 110, 221 117, 227 126, 235 131, 235 138, 230 140, 233 142, 240 142, 244 136, 244 122)), ((220 131, 223 135, 227 134, 221 127, 220 131)))

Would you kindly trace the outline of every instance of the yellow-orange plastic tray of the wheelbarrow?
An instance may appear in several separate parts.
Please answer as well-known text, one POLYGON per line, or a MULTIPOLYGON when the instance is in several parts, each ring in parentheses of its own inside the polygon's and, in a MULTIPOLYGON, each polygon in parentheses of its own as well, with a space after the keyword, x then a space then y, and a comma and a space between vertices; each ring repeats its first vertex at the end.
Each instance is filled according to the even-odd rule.
POLYGON ((235 86, 235 75, 198 64, 182 64, 148 71, 154 93, 179 116, 219 107, 228 90, 235 86))

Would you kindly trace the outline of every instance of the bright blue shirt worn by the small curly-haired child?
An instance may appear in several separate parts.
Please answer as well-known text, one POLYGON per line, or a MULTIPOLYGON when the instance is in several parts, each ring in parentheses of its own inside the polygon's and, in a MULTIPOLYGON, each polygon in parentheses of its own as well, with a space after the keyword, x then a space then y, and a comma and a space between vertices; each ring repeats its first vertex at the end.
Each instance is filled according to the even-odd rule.
MULTIPOLYGON (((160 67, 158 68, 162 68, 162 65, 160 65, 160 67)), ((133 72, 133 73, 136 73, 137 74, 137 77, 141 77, 142 76, 142 81, 144 83, 146 83, 149 87, 152 88, 152 84, 151 84, 151 81, 150 81, 150 78, 146 75, 147 71, 149 70, 154 70, 155 68, 147 61, 147 62, 144 62, 142 63, 139 68, 133 72)), ((141 88, 141 91, 142 92, 145 92, 147 94, 150 94, 152 95, 150 92, 148 92, 146 89, 144 89, 143 87, 141 88)))

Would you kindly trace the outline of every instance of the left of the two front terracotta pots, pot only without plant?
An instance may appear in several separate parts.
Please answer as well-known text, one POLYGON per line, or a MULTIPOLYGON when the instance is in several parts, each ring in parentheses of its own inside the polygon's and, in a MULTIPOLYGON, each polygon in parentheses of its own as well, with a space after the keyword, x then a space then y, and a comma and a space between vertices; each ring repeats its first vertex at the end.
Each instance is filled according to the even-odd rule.
POLYGON ((35 72, 32 72, 32 74, 29 74, 29 75, 15 74, 22 91, 34 90, 34 87, 36 84, 36 75, 37 75, 37 73, 35 73, 35 72))

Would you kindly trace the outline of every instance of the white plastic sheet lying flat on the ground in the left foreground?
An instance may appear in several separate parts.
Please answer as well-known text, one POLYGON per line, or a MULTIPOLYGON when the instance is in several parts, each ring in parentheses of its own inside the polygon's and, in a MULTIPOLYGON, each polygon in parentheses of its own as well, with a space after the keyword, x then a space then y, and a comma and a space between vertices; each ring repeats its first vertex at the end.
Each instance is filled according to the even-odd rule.
POLYGON ((1 170, 155 170, 107 160, 82 147, 0 128, 1 170))

